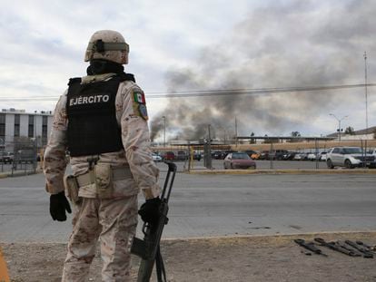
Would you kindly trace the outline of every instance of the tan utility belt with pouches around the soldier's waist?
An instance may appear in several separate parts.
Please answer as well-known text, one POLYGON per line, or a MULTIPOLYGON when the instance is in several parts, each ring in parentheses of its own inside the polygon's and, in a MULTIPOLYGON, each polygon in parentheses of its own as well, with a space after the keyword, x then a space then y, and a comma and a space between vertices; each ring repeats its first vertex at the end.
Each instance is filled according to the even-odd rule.
POLYGON ((77 204, 81 201, 78 191, 82 187, 95 190, 99 199, 108 199, 113 195, 114 181, 129 179, 133 179, 133 175, 128 165, 111 167, 107 163, 98 163, 84 174, 65 176, 64 186, 67 197, 74 204, 77 204))

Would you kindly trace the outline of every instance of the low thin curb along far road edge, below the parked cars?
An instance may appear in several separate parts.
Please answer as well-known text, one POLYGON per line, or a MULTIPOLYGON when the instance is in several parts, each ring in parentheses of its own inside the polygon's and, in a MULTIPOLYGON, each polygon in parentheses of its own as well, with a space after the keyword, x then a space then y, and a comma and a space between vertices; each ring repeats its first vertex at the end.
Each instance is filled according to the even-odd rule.
POLYGON ((376 174, 376 170, 190 170, 188 174, 376 174))

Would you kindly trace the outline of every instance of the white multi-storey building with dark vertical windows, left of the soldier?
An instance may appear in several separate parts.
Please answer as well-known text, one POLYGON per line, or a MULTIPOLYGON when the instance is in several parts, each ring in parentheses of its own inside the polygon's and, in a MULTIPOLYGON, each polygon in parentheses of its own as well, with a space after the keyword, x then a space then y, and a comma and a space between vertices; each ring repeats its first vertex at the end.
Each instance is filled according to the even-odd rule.
POLYGON ((0 146, 2 151, 14 151, 16 141, 34 141, 38 148, 47 144, 53 114, 3 109, 0 112, 0 146))

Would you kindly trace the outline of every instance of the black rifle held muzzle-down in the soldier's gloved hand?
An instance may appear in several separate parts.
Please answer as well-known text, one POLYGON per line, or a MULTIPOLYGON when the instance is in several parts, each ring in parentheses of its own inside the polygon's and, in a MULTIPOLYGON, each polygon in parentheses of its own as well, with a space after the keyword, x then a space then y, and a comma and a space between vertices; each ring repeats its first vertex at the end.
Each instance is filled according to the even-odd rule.
POLYGON ((154 263, 158 282, 167 282, 163 258, 161 255, 160 241, 164 225, 168 222, 168 200, 170 199, 171 190, 173 188, 176 165, 173 162, 165 163, 168 165, 168 171, 161 194, 158 223, 155 226, 152 226, 149 223, 143 222, 143 239, 134 237, 134 242, 131 248, 131 253, 141 258, 137 282, 150 281, 154 263), (172 177, 170 181, 171 174, 172 177))

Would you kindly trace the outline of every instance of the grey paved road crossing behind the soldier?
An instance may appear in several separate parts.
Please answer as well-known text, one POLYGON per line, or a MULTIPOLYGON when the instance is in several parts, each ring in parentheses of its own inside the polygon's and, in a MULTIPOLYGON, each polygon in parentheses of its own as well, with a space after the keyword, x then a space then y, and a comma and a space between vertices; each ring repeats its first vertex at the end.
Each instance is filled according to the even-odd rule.
MULTIPOLYGON (((375 184, 376 175, 178 173, 164 237, 375 230, 375 184)), ((0 180, 1 242, 65 242, 70 230, 50 219, 43 174, 0 180)))

